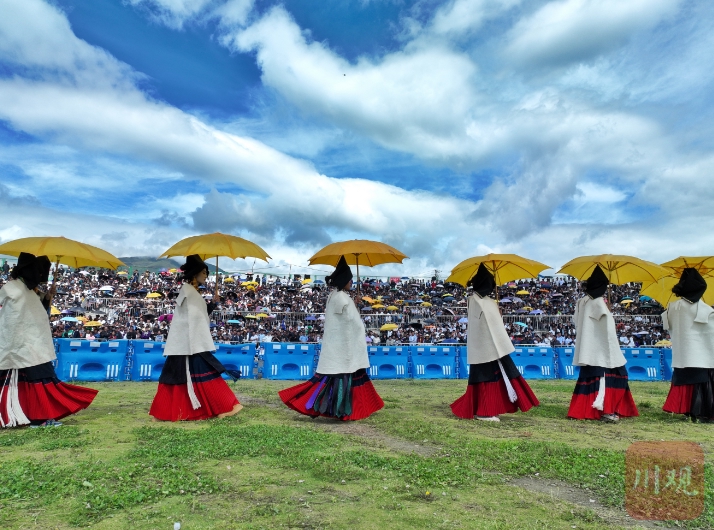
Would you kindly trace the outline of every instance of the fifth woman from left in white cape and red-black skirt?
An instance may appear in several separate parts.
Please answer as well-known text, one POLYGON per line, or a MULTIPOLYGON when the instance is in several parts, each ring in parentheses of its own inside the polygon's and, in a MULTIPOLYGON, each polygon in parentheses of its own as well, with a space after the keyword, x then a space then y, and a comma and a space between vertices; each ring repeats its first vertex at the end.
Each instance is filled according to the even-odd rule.
POLYGON ((580 366, 580 375, 570 400, 569 418, 618 421, 621 416, 639 416, 615 319, 602 298, 609 283, 596 266, 585 284, 587 294, 575 306, 573 365, 580 366))

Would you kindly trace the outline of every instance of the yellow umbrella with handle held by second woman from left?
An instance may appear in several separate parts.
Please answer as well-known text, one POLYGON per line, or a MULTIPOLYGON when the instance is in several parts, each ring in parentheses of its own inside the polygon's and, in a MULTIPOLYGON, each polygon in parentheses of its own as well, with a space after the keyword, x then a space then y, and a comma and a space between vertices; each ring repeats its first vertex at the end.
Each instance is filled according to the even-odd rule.
MULTIPOLYGON (((159 257, 170 258, 173 256, 190 256, 192 254, 198 254, 202 260, 216 258, 216 273, 218 273, 219 256, 227 256, 231 259, 258 258, 263 261, 267 261, 270 258, 265 250, 252 241, 238 236, 221 234, 220 232, 182 239, 159 257)), ((216 282, 215 295, 218 295, 218 282, 216 282)))

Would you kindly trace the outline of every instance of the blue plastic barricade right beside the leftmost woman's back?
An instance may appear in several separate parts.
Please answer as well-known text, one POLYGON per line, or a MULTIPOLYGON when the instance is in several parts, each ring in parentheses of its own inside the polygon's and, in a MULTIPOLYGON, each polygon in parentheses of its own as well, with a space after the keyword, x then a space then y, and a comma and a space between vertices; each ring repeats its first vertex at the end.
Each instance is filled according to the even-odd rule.
POLYGON ((129 341, 93 342, 58 339, 58 376, 62 380, 118 381, 124 379, 129 341))

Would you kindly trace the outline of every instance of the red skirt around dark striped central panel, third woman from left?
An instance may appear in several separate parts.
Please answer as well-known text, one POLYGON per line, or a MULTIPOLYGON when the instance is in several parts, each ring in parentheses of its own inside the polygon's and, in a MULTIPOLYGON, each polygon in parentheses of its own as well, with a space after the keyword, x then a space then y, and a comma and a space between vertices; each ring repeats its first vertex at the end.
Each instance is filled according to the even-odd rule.
MULTIPOLYGON (((324 416, 334 418, 335 416, 320 414, 313 409, 307 408, 307 403, 310 401, 310 398, 315 392, 319 392, 322 388, 323 377, 323 375, 315 374, 309 381, 285 388, 278 392, 278 395, 280 399, 283 400, 283 403, 295 412, 312 417, 324 416)), ((384 401, 379 397, 377 390, 369 379, 367 371, 364 369, 358 370, 353 375, 351 396, 352 413, 349 416, 339 418, 343 421, 363 420, 384 407, 384 401)))

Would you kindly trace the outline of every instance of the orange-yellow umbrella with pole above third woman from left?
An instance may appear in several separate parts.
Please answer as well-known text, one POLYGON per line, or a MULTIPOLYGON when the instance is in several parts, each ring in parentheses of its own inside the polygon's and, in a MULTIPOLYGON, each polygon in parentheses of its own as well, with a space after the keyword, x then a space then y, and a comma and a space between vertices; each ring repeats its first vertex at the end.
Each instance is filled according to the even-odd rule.
POLYGON ((386 243, 367 239, 352 239, 327 245, 318 250, 308 262, 310 265, 322 264, 334 267, 342 256, 345 257, 348 265, 357 266, 358 291, 360 263, 368 267, 374 267, 382 263, 402 263, 409 258, 406 254, 399 252, 396 248, 390 247, 386 243))

